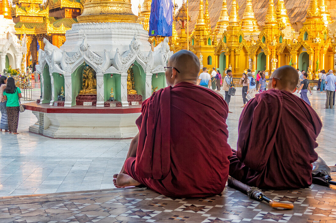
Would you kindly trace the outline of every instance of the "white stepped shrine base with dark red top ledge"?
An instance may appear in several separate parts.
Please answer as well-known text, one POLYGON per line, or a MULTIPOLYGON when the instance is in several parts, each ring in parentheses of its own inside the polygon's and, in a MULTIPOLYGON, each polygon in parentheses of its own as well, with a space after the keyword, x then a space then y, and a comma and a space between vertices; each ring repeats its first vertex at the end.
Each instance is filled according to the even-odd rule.
POLYGON ((37 118, 29 131, 51 138, 124 139, 138 133, 135 120, 140 115, 141 105, 64 107, 36 102, 24 105, 37 118))

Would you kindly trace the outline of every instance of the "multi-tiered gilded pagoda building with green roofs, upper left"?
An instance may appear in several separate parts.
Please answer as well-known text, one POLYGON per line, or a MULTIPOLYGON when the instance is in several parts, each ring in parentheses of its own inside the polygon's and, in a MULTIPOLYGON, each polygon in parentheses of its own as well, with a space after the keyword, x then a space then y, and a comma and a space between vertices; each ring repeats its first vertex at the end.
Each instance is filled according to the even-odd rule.
POLYGON ((35 66, 38 49, 44 49, 43 39, 60 47, 65 32, 77 23, 83 8, 80 0, 13 0, 11 16, 19 39, 26 34, 27 65, 35 66))

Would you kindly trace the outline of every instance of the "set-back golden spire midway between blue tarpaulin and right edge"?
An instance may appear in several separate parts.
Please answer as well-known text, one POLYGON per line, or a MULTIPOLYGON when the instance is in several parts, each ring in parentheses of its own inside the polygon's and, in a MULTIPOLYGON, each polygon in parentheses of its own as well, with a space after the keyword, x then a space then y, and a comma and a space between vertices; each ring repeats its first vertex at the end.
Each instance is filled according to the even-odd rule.
POLYGON ((252 0, 246 1, 246 7, 242 18, 242 31, 246 33, 259 34, 260 28, 254 16, 252 0))

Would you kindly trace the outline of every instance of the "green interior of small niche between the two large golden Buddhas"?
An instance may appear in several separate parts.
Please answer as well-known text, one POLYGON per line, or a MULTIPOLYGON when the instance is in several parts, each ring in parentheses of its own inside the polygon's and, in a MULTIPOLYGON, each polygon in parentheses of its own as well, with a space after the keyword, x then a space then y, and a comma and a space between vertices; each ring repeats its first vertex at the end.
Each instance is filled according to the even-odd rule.
POLYGON ((121 75, 120 74, 104 74, 104 101, 109 100, 111 88, 113 89, 114 99, 121 101, 121 75))

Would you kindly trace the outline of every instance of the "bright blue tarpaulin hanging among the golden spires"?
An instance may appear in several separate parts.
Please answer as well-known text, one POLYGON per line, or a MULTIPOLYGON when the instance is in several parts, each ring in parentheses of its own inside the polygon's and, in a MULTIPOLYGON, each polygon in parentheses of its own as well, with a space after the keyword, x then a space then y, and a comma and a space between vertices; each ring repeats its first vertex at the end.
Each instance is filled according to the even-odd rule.
POLYGON ((149 19, 150 36, 172 36, 173 2, 172 0, 153 0, 149 19))

